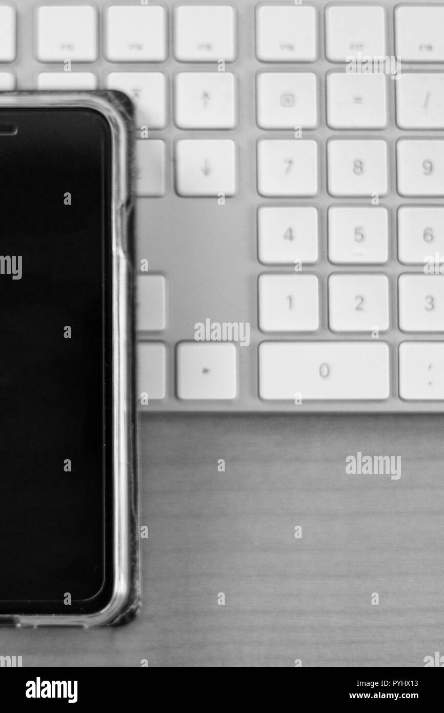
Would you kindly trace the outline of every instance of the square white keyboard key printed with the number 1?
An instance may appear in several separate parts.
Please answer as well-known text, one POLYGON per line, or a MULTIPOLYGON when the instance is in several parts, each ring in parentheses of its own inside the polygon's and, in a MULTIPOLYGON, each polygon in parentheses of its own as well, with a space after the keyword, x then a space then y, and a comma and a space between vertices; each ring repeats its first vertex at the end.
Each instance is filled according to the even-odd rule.
POLYGON ((262 332, 316 332, 319 282, 316 275, 259 275, 262 332))

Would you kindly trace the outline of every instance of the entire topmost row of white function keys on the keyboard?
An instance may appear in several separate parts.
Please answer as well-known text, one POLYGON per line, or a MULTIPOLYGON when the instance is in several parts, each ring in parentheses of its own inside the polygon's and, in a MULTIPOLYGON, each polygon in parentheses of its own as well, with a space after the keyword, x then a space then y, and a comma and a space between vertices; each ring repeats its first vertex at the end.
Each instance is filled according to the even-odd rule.
MULTIPOLYGON (((99 14, 93 5, 43 5, 36 9, 36 54, 42 62, 93 62, 99 56, 99 14)), ((16 9, 0 8, 0 61, 16 58, 16 9)), ((319 57, 314 5, 260 4, 256 54, 260 61, 313 62, 319 57)), ((111 5, 104 11, 105 57, 112 62, 162 62, 168 55, 167 10, 162 5, 111 5)), ((395 10, 396 54, 406 62, 444 61, 444 6, 395 10)), ((325 12, 326 57, 385 56, 387 16, 379 5, 333 4, 325 12)), ((173 17, 173 51, 183 62, 234 61, 237 13, 233 6, 179 5, 173 17)))

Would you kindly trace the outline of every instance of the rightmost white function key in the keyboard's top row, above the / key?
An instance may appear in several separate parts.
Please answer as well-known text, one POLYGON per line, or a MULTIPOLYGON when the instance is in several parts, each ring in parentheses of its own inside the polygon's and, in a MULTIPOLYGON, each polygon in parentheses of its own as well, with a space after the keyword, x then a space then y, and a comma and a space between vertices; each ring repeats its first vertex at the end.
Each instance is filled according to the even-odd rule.
POLYGON ((444 6, 399 6, 395 11, 396 54, 403 62, 444 61, 444 6))

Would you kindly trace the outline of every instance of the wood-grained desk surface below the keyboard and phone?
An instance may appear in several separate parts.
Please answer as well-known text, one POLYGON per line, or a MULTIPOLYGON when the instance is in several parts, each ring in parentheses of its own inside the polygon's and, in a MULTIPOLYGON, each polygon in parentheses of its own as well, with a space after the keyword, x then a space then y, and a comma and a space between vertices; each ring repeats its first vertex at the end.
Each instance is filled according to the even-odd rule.
POLYGON ((25 666, 423 666, 444 653, 443 424, 144 415, 140 615, 2 629, 0 653, 25 666), (347 475, 357 451, 401 456, 401 478, 347 475))

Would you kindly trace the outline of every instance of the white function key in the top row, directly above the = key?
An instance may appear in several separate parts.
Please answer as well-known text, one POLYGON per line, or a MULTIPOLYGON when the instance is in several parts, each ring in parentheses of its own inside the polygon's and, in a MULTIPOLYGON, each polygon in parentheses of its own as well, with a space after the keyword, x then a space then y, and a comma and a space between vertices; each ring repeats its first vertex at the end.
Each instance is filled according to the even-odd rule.
POLYGON ((331 62, 349 57, 386 54, 386 14, 383 7, 332 5, 326 9, 326 56, 331 62))

